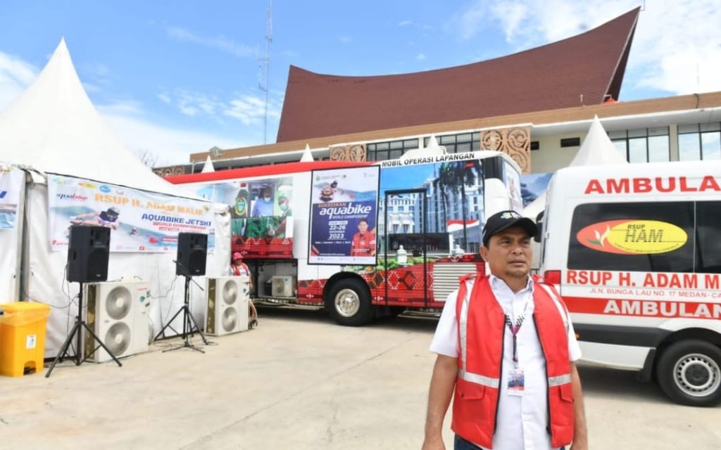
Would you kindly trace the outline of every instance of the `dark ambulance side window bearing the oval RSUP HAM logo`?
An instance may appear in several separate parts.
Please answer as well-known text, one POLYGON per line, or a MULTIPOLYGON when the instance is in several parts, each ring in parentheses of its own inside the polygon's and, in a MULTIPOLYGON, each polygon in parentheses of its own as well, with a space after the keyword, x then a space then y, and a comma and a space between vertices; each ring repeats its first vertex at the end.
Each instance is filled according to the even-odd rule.
MULTIPOLYGON (((720 237, 717 229, 709 233, 720 237)), ((718 255, 721 251, 715 253, 718 255)), ((721 256, 714 257, 716 262, 712 264, 720 264, 721 256)), ((578 205, 571 222, 567 266, 609 271, 694 271, 694 202, 578 205), (652 229, 646 222, 650 220, 681 228, 686 238, 674 241, 670 251, 645 253, 643 248, 658 248, 657 244, 668 240, 670 233, 652 229), (619 225, 620 221, 630 221, 632 225, 619 225)))

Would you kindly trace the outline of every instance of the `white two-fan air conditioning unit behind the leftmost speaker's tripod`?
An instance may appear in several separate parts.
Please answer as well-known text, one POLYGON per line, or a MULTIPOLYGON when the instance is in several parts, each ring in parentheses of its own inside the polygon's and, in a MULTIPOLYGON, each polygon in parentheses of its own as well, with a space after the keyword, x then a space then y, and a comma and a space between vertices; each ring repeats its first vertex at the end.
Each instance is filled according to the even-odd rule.
MULTIPOLYGON (((148 351, 151 334, 148 291, 147 282, 86 285, 87 323, 116 358, 148 351)), ((85 355, 95 362, 112 359, 89 333, 85 338, 85 355)))

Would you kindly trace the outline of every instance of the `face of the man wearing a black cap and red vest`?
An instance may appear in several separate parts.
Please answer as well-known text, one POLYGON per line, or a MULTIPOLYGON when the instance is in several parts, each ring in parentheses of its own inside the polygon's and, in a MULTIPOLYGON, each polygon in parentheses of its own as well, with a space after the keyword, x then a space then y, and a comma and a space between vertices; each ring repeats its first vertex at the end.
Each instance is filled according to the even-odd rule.
POLYGON ((498 278, 525 278, 531 271, 531 237, 522 227, 511 227, 492 235, 481 257, 498 278))

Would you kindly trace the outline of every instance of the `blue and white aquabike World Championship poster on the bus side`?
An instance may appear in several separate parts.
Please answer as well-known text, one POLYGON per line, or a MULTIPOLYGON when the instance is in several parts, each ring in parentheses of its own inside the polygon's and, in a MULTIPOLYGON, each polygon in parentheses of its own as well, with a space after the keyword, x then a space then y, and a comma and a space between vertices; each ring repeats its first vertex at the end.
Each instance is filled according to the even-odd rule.
POLYGON ((376 264, 379 166, 313 171, 309 264, 376 264))

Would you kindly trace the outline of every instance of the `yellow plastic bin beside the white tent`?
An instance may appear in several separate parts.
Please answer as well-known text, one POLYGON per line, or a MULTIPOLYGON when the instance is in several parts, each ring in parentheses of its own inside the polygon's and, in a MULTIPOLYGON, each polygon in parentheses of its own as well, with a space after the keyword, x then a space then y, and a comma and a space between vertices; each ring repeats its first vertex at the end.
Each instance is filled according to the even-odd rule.
POLYGON ((22 377, 43 372, 45 323, 50 307, 42 303, 0 305, 0 375, 22 377))

